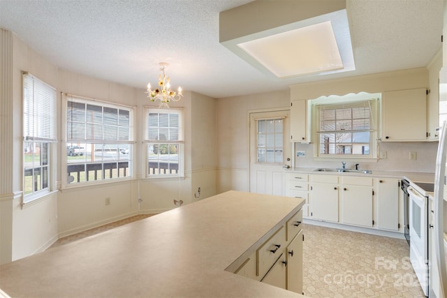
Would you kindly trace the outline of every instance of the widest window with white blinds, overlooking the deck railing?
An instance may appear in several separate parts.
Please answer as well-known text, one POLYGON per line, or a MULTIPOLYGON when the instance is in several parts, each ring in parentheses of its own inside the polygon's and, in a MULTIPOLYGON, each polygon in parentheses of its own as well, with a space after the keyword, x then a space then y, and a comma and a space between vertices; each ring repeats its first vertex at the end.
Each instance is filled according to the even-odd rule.
POLYGON ((131 177, 133 109, 67 97, 67 183, 131 177))

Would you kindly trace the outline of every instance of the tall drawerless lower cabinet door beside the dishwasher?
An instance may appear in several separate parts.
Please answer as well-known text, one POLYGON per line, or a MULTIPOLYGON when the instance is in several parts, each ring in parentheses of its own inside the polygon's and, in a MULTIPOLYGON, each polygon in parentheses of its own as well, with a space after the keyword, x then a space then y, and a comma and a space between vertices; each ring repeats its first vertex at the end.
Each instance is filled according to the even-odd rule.
POLYGON ((377 179, 377 228, 399 230, 399 180, 377 179))

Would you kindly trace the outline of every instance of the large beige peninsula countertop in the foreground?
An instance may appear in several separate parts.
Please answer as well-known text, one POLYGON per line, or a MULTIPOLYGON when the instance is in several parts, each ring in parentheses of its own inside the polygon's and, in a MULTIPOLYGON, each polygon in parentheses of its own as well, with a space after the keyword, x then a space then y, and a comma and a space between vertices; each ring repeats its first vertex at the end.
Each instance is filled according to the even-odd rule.
POLYGON ((225 271, 304 200, 228 191, 0 266, 11 297, 303 297, 225 271))

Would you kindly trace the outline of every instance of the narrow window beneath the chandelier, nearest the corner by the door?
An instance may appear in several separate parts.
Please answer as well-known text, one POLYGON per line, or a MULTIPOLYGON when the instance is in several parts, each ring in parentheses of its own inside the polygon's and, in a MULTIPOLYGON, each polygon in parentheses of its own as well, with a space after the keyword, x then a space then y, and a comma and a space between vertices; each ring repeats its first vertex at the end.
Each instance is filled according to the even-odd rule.
POLYGON ((183 110, 146 109, 146 177, 183 177, 183 110))

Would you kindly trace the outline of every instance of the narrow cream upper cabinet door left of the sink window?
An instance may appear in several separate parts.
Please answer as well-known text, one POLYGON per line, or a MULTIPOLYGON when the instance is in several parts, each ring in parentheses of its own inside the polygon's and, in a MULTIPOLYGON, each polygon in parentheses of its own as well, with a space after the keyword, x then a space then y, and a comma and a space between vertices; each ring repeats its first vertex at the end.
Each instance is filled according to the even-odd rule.
POLYGON ((310 142, 307 135, 307 100, 291 102, 292 142, 310 142))

